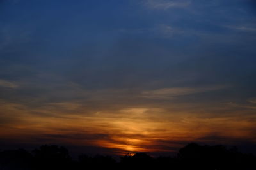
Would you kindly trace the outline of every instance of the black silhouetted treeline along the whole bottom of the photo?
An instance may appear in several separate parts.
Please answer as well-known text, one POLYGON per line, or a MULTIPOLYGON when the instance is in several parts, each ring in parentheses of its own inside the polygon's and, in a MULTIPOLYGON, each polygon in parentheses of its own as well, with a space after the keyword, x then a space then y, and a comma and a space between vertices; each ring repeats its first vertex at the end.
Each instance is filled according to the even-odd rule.
POLYGON ((116 161, 110 156, 80 155, 72 160, 68 150, 56 145, 43 145, 33 152, 24 149, 0 152, 0 170, 34 169, 170 169, 170 170, 255 170, 256 157, 223 145, 208 146, 189 143, 175 157, 150 157, 145 153, 125 155, 116 161))

